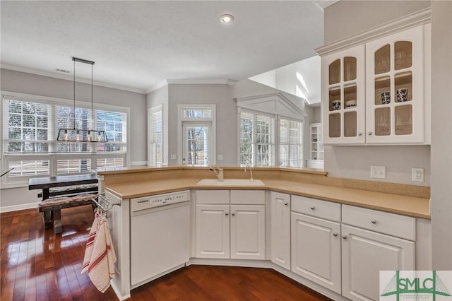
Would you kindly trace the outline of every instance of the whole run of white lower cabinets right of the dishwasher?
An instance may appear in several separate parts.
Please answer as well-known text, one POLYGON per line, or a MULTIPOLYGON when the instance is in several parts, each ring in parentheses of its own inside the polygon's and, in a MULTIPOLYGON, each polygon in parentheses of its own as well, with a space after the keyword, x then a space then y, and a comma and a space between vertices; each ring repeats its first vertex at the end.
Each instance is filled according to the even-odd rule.
MULTIPOLYGON (((265 259, 265 216, 264 191, 197 191, 196 256, 265 259)), ((269 222, 274 264, 350 300, 379 300, 379 271, 416 269, 415 218, 272 191, 269 222)))

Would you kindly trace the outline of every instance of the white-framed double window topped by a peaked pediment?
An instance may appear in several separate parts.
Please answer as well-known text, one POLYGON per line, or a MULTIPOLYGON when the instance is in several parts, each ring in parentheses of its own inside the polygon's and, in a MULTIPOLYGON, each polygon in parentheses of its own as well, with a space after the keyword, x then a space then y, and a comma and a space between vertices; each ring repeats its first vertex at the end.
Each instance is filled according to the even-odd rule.
POLYGON ((303 167, 304 101, 286 93, 237 98, 240 165, 303 167))

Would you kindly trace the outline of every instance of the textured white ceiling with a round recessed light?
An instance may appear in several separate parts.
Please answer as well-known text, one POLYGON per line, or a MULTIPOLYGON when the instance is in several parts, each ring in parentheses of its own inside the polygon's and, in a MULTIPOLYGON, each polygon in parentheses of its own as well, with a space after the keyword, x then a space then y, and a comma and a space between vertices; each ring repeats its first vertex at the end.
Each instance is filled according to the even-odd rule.
POLYGON ((79 57, 95 61, 96 84, 140 93, 165 80, 240 81, 323 44, 317 1, 1 1, 0 10, 2 68, 72 78, 79 57), (221 23, 223 13, 234 22, 221 23))

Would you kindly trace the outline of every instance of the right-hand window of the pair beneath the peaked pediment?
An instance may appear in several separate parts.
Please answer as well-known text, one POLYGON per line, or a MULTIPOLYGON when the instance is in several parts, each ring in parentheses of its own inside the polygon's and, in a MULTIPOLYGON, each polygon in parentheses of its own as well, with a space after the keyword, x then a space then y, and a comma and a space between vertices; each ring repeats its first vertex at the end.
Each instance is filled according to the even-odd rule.
POLYGON ((280 118, 280 166, 303 166, 303 124, 280 118))

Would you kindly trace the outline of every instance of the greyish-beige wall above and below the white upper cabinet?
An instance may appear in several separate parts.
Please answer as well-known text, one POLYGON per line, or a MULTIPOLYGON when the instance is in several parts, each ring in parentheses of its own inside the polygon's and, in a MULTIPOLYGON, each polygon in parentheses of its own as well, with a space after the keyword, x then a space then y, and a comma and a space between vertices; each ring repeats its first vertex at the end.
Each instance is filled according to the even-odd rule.
MULTIPOLYGON (((325 9, 324 40, 340 40, 428 6, 429 1, 338 1, 325 9)), ((325 146, 325 170, 332 177, 374 180, 371 165, 386 166, 385 182, 430 186, 429 146, 325 146), (412 167, 424 168, 424 182, 411 181, 412 167)))

